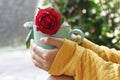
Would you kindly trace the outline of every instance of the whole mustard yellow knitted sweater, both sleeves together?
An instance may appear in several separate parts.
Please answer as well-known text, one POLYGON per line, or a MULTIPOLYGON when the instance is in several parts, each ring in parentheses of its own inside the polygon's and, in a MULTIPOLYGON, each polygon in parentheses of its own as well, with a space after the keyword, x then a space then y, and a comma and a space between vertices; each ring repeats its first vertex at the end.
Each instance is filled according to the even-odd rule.
POLYGON ((75 80, 120 80, 120 51, 87 39, 81 46, 65 39, 48 72, 75 80))

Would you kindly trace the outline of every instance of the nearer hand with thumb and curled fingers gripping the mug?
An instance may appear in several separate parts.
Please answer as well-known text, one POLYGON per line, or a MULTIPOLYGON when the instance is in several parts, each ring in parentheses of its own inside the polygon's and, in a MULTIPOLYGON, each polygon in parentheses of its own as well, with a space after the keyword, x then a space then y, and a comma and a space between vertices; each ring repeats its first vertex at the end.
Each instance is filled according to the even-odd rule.
POLYGON ((30 53, 33 63, 38 68, 48 71, 59 48, 63 44, 64 40, 60 38, 46 37, 40 39, 41 43, 53 45, 56 48, 48 50, 40 46, 37 46, 33 40, 31 40, 30 53))

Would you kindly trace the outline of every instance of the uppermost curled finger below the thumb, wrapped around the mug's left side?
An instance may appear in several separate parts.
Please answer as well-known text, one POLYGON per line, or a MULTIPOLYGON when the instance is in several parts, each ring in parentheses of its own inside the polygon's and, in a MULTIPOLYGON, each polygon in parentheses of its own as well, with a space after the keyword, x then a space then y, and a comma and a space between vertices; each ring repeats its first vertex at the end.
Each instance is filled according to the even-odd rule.
POLYGON ((33 40, 31 40, 31 44, 30 44, 30 49, 37 55, 39 55, 41 58, 44 58, 44 49, 42 47, 39 47, 35 44, 35 42, 33 40))

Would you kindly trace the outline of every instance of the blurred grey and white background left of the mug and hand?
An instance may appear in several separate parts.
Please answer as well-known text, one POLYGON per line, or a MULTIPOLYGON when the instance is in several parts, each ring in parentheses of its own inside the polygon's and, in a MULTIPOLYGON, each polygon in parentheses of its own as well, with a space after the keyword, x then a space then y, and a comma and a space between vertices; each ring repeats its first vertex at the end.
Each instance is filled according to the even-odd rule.
POLYGON ((32 21, 37 0, 0 0, 0 80, 46 80, 48 74, 34 66, 23 27, 32 21))

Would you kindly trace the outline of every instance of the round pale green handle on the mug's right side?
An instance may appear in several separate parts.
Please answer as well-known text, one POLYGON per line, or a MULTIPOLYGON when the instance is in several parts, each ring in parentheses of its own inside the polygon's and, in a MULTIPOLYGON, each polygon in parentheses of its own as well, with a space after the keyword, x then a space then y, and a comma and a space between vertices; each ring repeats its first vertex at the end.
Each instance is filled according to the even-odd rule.
POLYGON ((71 30, 70 31, 70 35, 71 35, 71 39, 73 39, 74 41, 76 41, 77 35, 80 36, 79 40, 76 41, 78 44, 80 44, 83 41, 84 37, 85 37, 83 31, 81 31, 80 29, 73 29, 73 30, 71 30), (72 38, 73 34, 76 35, 75 38, 72 38))

